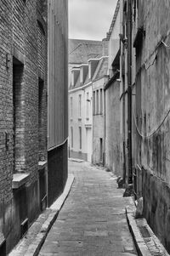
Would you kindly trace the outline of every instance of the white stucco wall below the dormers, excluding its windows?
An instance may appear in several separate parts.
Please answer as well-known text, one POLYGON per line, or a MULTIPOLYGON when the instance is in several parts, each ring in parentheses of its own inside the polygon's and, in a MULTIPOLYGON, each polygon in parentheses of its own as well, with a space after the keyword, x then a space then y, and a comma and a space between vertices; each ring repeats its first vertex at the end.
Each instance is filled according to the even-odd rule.
POLYGON ((76 88, 69 92, 69 148, 70 157, 91 162, 92 157, 92 84, 83 89, 76 88), (88 99, 87 99, 88 94, 88 99), (81 117, 79 117, 78 100, 82 95, 81 117), (71 111, 72 98, 72 111, 71 111), (89 101, 87 101, 89 100, 89 101), (87 116, 87 104, 89 115, 87 116), (71 115, 72 112, 72 115, 71 115), (80 149, 79 127, 82 128, 82 149, 80 149), (71 146, 71 128, 73 129, 73 147, 71 146), (88 133, 87 133, 88 129, 88 133))

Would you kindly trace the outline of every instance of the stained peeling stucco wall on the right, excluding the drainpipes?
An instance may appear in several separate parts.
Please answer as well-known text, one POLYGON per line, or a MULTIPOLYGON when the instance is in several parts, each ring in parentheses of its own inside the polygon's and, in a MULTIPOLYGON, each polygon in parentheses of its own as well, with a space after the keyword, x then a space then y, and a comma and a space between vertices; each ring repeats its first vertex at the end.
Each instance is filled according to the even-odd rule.
POLYGON ((135 165, 142 167, 138 182, 143 188, 139 194, 144 196, 144 215, 170 252, 170 51, 161 43, 170 43, 170 3, 151 0, 140 4, 143 11, 139 10, 139 20, 145 37, 136 51, 133 115, 142 136, 136 132, 134 137, 135 165))

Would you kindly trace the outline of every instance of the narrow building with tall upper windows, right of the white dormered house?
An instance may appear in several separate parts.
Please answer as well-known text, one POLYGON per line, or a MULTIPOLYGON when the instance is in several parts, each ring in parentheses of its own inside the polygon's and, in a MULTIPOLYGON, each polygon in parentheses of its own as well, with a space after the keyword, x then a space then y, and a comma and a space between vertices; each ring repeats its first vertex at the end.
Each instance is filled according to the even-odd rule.
POLYGON ((105 83, 108 56, 88 60, 93 82, 93 163, 105 165, 105 83))

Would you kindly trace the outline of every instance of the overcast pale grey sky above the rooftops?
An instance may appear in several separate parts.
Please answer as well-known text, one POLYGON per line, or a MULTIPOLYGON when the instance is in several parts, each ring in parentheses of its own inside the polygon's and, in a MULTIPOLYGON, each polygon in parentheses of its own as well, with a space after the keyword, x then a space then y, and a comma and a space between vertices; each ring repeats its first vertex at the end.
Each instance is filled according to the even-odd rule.
POLYGON ((117 0, 68 0, 69 38, 102 40, 109 31, 117 0))

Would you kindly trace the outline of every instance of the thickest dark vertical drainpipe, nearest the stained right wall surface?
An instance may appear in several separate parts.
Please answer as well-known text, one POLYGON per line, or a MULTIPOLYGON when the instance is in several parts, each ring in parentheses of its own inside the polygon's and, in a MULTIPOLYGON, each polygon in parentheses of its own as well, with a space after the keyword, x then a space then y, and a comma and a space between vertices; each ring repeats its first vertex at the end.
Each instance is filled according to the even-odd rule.
POLYGON ((133 183, 132 168, 132 0, 127 0, 127 154, 128 184, 133 183))

